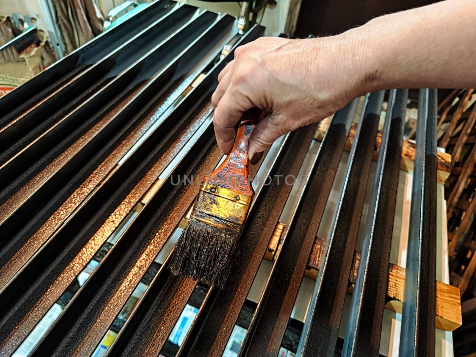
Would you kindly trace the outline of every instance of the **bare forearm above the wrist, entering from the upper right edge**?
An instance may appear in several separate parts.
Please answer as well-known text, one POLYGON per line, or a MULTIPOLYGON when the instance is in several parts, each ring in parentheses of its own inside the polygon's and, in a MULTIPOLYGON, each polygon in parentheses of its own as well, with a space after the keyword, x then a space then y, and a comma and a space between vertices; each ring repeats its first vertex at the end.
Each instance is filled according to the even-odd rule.
POLYGON ((475 0, 446 0, 376 18, 339 36, 349 44, 367 91, 471 88, 475 19, 475 0))

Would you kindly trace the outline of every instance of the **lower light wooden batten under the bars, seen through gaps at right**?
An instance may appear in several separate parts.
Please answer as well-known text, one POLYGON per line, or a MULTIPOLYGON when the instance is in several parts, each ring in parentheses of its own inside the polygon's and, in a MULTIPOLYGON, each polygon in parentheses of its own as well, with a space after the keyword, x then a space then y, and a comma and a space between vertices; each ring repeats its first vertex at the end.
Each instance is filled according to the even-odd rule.
MULTIPOLYGON (((279 237, 279 235, 278 235, 279 237)), ((278 241, 271 240, 270 244, 278 241)), ((326 246, 324 238, 317 237, 312 247, 311 255, 307 262, 305 277, 316 280, 317 270, 321 264, 322 255, 326 246)), ((276 248, 274 248, 276 250, 276 248)), ((279 248, 278 248, 279 249, 279 248)), ((265 256, 269 259, 269 255, 265 256)), ((476 258, 474 259, 476 261, 476 258)), ((358 264, 360 261, 360 252, 354 253, 352 262, 352 269, 349 276, 349 294, 353 291, 353 284, 357 278, 358 264)), ((402 313, 403 287, 405 281, 405 268, 399 267, 395 264, 388 266, 388 287, 387 287, 387 304, 385 308, 402 313)), ((459 297, 459 289, 452 285, 436 282, 436 327, 446 331, 453 331, 462 324, 461 321, 461 304, 459 297)))

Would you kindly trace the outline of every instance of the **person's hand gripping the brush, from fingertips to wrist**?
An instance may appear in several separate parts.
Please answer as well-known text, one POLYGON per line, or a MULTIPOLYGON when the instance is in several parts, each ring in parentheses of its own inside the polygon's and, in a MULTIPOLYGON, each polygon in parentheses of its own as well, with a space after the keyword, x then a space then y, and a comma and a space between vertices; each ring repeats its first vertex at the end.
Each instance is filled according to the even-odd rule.
POLYGON ((366 93, 365 71, 356 70, 365 61, 346 34, 308 40, 263 37, 238 47, 235 59, 218 75, 212 96, 220 149, 231 150, 238 121, 250 108, 269 112, 249 139, 249 158, 256 164, 281 135, 324 119, 366 93))

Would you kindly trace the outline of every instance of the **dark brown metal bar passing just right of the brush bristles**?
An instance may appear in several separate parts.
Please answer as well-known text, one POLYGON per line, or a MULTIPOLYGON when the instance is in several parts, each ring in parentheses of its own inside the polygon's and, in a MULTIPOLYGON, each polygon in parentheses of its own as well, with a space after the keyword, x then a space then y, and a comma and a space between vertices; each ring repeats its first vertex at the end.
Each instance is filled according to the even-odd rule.
MULTIPOLYGON (((290 133, 285 154, 278 159, 274 173, 294 175, 306 155, 317 125, 290 133)), ((196 323, 183 342, 178 356, 221 356, 238 315, 248 295, 249 288, 258 272, 274 229, 284 208, 291 186, 278 184, 273 175, 271 183, 264 187, 265 194, 253 200, 240 244, 240 262, 222 290, 213 289, 207 306, 196 317, 196 323)))

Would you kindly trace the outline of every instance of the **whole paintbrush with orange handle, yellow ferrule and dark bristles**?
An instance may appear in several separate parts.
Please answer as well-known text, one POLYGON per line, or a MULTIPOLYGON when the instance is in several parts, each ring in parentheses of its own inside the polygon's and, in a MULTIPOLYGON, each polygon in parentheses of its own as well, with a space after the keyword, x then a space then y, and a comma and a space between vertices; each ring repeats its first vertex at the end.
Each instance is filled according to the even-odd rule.
POLYGON ((200 186, 187 226, 172 253, 170 269, 222 288, 238 258, 241 230, 255 195, 248 181, 248 140, 264 111, 243 114, 233 145, 223 163, 200 186))

